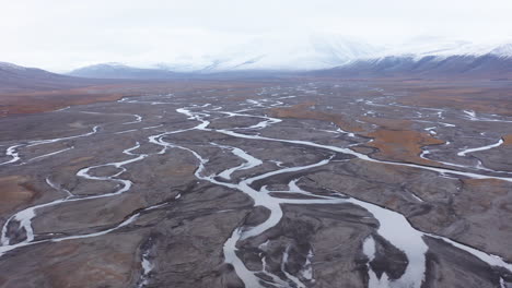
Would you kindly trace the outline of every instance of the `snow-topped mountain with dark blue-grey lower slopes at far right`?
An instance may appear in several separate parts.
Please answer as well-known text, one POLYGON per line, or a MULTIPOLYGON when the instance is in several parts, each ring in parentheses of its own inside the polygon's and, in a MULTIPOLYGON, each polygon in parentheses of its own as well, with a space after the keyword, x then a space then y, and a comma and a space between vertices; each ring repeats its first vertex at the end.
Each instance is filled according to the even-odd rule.
POLYGON ((340 77, 512 77, 512 45, 421 37, 387 46, 374 58, 312 72, 340 77))

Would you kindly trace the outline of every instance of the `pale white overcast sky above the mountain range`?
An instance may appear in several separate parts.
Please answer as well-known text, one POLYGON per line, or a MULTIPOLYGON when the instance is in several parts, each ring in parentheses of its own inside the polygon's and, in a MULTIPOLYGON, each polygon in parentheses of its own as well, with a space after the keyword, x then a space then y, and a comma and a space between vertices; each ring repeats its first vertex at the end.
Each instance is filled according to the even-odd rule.
POLYGON ((199 57, 265 34, 512 38, 512 0, 0 0, 0 61, 67 71, 199 57))

